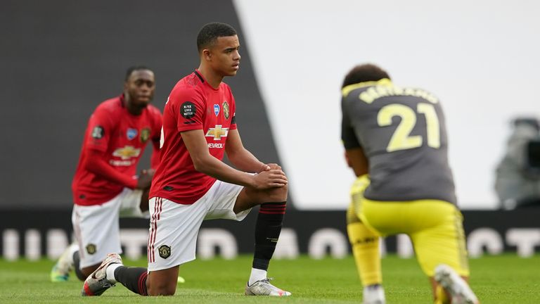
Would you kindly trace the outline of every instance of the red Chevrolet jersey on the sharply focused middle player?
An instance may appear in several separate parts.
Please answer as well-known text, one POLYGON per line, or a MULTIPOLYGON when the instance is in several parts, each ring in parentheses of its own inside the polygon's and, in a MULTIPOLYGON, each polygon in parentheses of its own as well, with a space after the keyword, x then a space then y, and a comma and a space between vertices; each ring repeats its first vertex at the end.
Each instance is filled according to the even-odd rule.
POLYGON ((214 89, 198 70, 176 83, 163 110, 161 159, 150 198, 190 205, 210 189, 216 179, 195 170, 181 132, 203 129, 210 154, 222 160, 227 134, 236 129, 235 110, 231 88, 221 82, 214 89))

